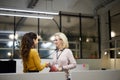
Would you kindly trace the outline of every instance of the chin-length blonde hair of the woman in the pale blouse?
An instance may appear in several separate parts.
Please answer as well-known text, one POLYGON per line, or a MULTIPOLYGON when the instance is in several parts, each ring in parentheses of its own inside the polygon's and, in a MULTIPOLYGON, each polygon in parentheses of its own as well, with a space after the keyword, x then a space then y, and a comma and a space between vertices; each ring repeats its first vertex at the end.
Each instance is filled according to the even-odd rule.
POLYGON ((62 48, 68 48, 69 47, 68 39, 67 39, 67 37, 64 33, 58 32, 58 33, 55 33, 54 36, 58 36, 60 39, 62 39, 62 41, 63 41, 62 48))

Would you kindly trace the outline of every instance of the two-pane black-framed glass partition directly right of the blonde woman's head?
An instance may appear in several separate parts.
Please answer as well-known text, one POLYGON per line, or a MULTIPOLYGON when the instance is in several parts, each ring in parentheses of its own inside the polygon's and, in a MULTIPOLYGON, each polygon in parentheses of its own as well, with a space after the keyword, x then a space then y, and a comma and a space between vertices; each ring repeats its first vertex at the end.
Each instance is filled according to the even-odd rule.
POLYGON ((97 18, 63 15, 61 19, 62 32, 68 37, 74 57, 83 59, 99 58, 97 18))

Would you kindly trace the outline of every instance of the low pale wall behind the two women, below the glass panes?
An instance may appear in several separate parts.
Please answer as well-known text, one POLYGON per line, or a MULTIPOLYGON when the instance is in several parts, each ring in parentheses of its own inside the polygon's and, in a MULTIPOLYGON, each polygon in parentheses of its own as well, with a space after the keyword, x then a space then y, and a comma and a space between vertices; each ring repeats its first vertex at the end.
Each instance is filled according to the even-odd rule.
MULTIPOLYGON (((42 63, 49 62, 52 59, 42 59, 42 63)), ((3 59, 4 61, 4 59, 3 59)), ((6 61, 6 60, 5 60, 6 61)), ((16 73, 23 73, 23 66, 21 59, 15 59, 17 61, 16 64, 16 73)), ((77 67, 74 70, 71 71, 81 71, 81 70, 101 70, 102 68, 106 69, 120 69, 120 59, 114 60, 114 59, 77 59, 77 67), (116 61, 116 62, 115 62, 116 61), (103 64, 104 62, 104 64, 103 64), (106 62, 109 62, 110 64, 105 64, 106 62), (107 66, 106 66, 107 65, 107 66)), ((49 68, 45 68, 41 72, 49 72, 49 68)))

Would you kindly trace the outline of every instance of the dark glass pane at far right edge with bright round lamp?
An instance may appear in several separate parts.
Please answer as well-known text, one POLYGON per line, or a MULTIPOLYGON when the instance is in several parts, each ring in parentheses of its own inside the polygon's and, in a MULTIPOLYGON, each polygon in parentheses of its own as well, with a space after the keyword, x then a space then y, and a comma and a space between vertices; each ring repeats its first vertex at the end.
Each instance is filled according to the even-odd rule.
POLYGON ((120 9, 119 4, 111 7, 108 11, 108 26, 110 40, 107 42, 110 46, 108 52, 110 58, 120 58, 120 9))

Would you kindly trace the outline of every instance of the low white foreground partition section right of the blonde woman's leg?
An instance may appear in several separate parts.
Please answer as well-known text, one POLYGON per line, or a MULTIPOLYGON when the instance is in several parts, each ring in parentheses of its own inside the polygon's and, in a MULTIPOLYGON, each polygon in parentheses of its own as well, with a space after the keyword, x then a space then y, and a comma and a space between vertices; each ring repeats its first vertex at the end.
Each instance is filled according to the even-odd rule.
POLYGON ((84 70, 72 72, 71 80, 120 80, 120 70, 84 70))

